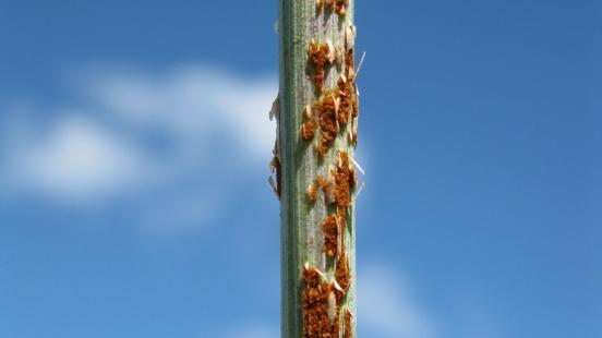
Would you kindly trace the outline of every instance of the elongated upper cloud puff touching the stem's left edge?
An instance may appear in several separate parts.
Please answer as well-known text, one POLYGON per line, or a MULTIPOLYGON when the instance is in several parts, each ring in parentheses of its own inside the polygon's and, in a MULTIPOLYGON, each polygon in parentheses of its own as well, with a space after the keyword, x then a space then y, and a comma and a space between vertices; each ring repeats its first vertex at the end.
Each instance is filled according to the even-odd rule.
POLYGON ((181 143, 221 137, 260 158, 269 156, 275 135, 266 111, 277 94, 275 77, 244 79, 214 68, 183 67, 158 75, 122 70, 93 72, 85 79, 91 101, 134 128, 158 128, 181 143))

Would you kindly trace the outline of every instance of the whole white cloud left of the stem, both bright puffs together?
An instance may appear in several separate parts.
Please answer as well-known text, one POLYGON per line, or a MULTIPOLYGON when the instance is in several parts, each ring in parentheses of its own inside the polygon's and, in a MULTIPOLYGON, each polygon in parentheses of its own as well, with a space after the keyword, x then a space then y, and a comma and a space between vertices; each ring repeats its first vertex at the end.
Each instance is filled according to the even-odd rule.
POLYGON ((172 184, 192 171, 210 174, 228 156, 261 168, 270 156, 273 77, 243 79, 206 67, 162 74, 95 70, 76 87, 68 104, 28 111, 38 120, 51 117, 49 123, 4 119, 45 135, 2 140, 11 145, 1 149, 1 179, 13 192, 89 201, 142 183, 172 184), (153 135, 168 150, 153 148, 153 135))

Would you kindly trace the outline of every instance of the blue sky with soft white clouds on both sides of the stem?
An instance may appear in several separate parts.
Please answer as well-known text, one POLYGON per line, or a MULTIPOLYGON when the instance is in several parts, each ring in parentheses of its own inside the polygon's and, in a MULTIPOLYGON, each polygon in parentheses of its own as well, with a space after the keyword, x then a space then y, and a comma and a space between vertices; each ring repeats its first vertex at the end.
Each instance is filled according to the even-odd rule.
MULTIPOLYGON (((274 1, 0 2, 0 337, 277 337, 274 1)), ((357 1, 359 333, 602 336, 602 4, 357 1)))

